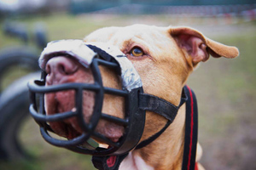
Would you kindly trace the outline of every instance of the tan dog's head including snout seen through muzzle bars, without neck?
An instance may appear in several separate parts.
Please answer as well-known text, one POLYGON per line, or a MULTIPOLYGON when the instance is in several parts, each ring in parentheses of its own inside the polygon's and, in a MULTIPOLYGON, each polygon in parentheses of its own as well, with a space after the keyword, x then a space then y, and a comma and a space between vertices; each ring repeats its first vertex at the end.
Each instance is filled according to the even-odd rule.
MULTIPOLYGON (((234 58, 238 50, 204 37, 201 32, 187 27, 156 27, 134 25, 126 27, 108 27, 92 32, 84 38, 85 43, 106 42, 119 48, 136 68, 143 82, 146 94, 153 94, 178 105, 182 88, 189 74, 201 61, 212 57, 234 58)), ((94 83, 93 73, 78 60, 67 56, 55 56, 45 65, 46 86, 69 82, 94 83)), ((102 82, 105 87, 121 89, 122 84, 116 71, 100 66, 102 82)), ((90 122, 95 104, 95 93, 83 91, 83 117, 90 122)), ((66 90, 45 94, 47 115, 74 111, 75 91, 66 90)), ((104 94, 102 112, 124 118, 125 100, 122 97, 104 94)), ((147 113, 143 138, 158 132, 166 119, 154 113, 147 113), (154 125, 154 126, 152 126, 154 125)), ((53 131, 67 139, 73 139, 83 133, 77 117, 62 122, 50 122, 53 131)), ((118 123, 100 120, 96 132, 113 142, 124 134, 124 127, 118 123)), ((102 142, 102 141, 99 141, 102 142)))

